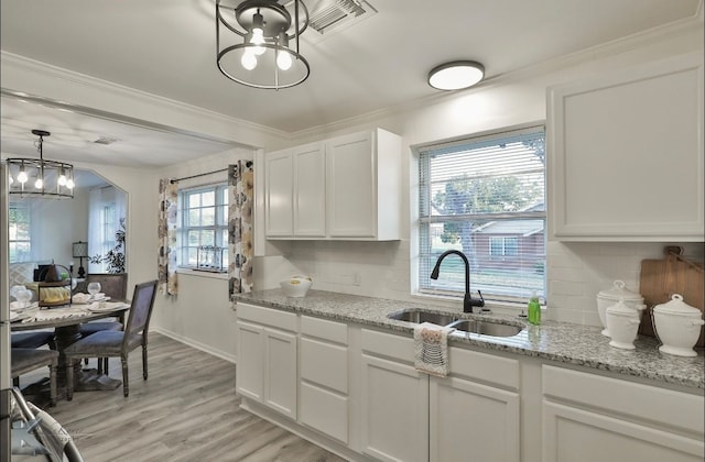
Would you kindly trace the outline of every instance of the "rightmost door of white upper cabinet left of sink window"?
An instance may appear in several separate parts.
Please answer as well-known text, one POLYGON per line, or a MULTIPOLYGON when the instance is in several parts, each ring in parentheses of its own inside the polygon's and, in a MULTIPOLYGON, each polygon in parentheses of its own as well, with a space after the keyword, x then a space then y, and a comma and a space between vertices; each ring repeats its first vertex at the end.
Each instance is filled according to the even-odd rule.
POLYGON ((372 133, 355 133, 326 144, 328 235, 373 238, 377 178, 372 133))

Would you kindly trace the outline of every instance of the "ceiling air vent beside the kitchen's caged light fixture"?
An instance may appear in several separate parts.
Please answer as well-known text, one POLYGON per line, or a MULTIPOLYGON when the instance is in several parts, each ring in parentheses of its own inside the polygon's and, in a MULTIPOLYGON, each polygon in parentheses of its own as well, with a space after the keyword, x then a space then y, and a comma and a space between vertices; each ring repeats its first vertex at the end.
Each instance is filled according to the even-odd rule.
POLYGON ((377 13, 365 0, 321 0, 312 2, 308 26, 325 34, 377 13))

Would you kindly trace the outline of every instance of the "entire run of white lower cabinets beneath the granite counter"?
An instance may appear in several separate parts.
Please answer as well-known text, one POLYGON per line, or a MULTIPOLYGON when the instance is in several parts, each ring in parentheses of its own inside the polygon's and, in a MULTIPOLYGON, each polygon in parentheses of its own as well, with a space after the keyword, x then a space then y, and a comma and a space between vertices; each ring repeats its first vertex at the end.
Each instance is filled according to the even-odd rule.
POLYGON ((413 339, 238 304, 242 406, 351 461, 694 462, 702 389, 449 346, 414 369, 413 339))

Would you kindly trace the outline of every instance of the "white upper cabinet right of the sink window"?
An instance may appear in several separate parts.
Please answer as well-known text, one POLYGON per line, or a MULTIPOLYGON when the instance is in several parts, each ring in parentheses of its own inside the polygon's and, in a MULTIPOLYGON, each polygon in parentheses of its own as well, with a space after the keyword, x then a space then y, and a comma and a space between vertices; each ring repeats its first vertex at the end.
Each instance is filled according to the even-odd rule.
POLYGON ((549 89, 550 235, 703 241, 703 55, 549 89))

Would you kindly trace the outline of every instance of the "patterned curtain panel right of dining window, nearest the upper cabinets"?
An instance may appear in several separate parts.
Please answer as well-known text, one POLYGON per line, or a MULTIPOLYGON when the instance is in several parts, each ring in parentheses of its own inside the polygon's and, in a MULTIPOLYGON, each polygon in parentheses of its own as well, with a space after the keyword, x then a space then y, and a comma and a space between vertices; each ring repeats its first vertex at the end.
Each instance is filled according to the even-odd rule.
POLYGON ((229 296, 252 290, 252 207, 254 170, 252 161, 238 161, 228 166, 228 273, 229 296))

